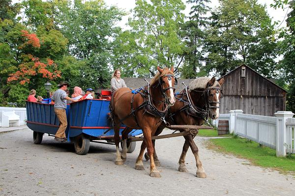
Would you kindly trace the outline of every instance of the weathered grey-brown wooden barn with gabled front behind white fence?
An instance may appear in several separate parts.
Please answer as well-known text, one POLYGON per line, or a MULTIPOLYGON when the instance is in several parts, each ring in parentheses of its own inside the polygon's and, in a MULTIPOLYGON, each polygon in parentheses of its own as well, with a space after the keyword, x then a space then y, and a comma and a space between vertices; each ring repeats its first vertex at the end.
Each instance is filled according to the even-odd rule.
POLYGON ((287 92, 250 67, 241 65, 223 77, 221 114, 241 109, 245 114, 274 116, 286 110, 287 92))

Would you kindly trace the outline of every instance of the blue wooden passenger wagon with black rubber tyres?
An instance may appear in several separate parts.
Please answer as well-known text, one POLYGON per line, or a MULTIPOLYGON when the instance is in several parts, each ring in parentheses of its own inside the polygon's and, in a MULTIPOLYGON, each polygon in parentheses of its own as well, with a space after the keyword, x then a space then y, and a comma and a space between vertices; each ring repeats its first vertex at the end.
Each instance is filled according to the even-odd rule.
MULTIPOLYGON (((67 105, 68 126, 65 134, 67 142, 73 142, 77 154, 87 154, 89 142, 114 144, 114 129, 110 129, 110 100, 84 99, 67 105), (106 142, 101 142, 105 140, 106 142)), ((59 119, 54 112, 54 105, 29 102, 27 108, 27 125, 33 130, 34 144, 41 144, 44 133, 55 135, 59 129, 59 119)), ((125 127, 122 125, 120 131, 125 127)), ((129 136, 142 134, 134 129, 129 136)), ((128 152, 134 151, 136 142, 127 141, 128 152)))

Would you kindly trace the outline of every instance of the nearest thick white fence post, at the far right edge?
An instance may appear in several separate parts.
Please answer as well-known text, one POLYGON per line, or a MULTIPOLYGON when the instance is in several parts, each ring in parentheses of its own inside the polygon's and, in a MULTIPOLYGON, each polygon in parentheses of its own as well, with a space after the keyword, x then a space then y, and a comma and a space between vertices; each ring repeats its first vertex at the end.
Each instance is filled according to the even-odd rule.
POLYGON ((277 111, 274 113, 276 121, 276 156, 286 156, 286 121, 292 118, 294 113, 290 111, 277 111))

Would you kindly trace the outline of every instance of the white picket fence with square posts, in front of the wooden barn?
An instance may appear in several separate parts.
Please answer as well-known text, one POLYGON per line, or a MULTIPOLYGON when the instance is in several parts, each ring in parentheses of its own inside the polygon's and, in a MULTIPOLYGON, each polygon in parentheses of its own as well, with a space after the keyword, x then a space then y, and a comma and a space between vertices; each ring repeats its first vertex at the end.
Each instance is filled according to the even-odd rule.
MULTIPOLYGON (((276 150, 277 156, 295 153, 295 118, 289 111, 278 111, 276 117, 243 114, 231 110, 220 114, 219 120, 228 120, 230 133, 245 137, 276 150)), ((218 126, 218 121, 214 122, 218 126)))

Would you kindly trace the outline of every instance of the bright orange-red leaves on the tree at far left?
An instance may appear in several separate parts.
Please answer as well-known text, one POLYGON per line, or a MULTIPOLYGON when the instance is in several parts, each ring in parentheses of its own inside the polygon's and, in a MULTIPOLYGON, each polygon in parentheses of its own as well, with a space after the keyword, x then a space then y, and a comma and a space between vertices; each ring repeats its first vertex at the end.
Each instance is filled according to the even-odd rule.
MULTIPOLYGON (((29 33, 26 30, 21 30, 21 32, 24 44, 20 45, 18 49, 28 51, 30 48, 31 50, 40 48, 40 40, 36 34, 29 33)), ((49 80, 61 77, 58 66, 52 59, 47 58, 47 62, 40 62, 38 57, 26 52, 22 53, 21 57, 23 60, 18 66, 18 71, 9 74, 7 83, 15 81, 19 82, 21 85, 25 85, 30 82, 33 76, 47 78, 49 80)))

